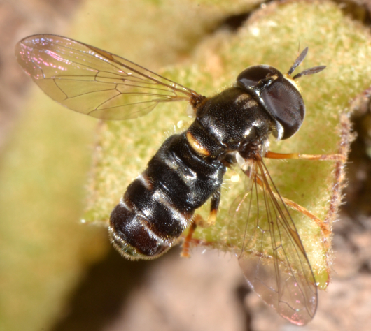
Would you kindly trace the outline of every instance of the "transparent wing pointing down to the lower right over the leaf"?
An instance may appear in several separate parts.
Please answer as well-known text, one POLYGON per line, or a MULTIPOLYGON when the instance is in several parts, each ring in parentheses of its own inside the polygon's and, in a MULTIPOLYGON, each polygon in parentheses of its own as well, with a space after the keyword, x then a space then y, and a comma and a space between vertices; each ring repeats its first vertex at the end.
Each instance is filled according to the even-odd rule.
POLYGON ((288 319, 304 325, 314 317, 317 288, 307 253, 288 207, 257 155, 242 167, 249 189, 236 200, 230 233, 244 224, 241 237, 232 237, 239 265, 248 284, 262 300, 288 319))

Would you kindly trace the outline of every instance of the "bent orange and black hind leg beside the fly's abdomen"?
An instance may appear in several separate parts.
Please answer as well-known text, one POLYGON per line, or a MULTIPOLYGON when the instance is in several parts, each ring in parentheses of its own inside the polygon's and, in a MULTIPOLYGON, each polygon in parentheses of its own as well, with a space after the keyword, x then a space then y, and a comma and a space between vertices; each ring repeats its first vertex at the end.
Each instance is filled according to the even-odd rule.
POLYGON ((213 225, 216 222, 216 214, 218 213, 218 207, 219 203, 221 202, 221 189, 218 189, 213 196, 211 196, 211 207, 210 207, 210 214, 207 218, 207 221, 205 221, 201 215, 196 214, 193 218, 193 222, 188 230, 188 234, 186 238, 184 239, 183 245, 182 245, 182 251, 181 251, 181 257, 182 258, 190 258, 190 242, 192 240, 193 233, 195 233, 195 230, 197 226, 201 227, 208 227, 213 225))

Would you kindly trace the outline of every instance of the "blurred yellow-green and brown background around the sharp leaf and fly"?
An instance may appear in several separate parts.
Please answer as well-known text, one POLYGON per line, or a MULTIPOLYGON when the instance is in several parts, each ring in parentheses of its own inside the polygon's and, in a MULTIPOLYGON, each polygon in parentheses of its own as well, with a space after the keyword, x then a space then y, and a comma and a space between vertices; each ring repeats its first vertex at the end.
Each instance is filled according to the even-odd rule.
MULTIPOLYGON (((251 293, 230 254, 195 249, 182 259, 175 248, 158 260, 130 262, 113 250, 105 228, 81 224, 97 121, 59 111, 14 58, 21 38, 46 32, 155 71, 186 62, 220 29, 232 36, 260 4, 0 0, 0 330, 298 330, 251 293), (165 38, 154 35, 161 29, 165 38)), ((332 4, 370 38, 367 1, 332 4)), ((334 225, 332 281, 301 330, 371 325, 371 117, 369 91, 358 94, 349 100, 358 138, 334 225)))

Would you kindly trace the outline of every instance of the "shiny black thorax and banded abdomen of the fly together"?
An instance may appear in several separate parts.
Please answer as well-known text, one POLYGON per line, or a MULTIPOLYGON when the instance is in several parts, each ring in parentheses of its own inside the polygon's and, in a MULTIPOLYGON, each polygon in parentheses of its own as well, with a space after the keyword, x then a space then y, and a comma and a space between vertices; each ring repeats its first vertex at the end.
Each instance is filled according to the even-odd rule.
POLYGON ((130 257, 153 257, 172 246, 212 197, 216 210, 225 163, 232 152, 258 151, 274 120, 241 87, 232 87, 197 108, 196 119, 169 137, 111 214, 113 242, 130 257))

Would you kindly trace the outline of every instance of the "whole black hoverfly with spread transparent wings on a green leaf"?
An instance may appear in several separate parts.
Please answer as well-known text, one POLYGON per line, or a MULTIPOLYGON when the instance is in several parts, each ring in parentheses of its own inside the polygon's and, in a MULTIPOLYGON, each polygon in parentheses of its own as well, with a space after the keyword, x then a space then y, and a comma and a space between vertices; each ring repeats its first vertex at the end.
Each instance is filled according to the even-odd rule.
POLYGON ((29 36, 15 49, 22 68, 48 96, 92 117, 133 119, 159 103, 188 101, 194 122, 183 133, 167 138, 146 170, 127 187, 111 213, 111 242, 134 260, 165 253, 184 230, 195 228, 195 210, 207 200, 211 201, 209 221, 215 221, 223 176, 228 167, 238 165, 248 185, 235 217, 251 230, 239 247, 239 264, 253 290, 298 325, 313 318, 317 288, 288 207, 309 212, 279 195, 263 158, 323 159, 269 151, 270 135, 277 140, 290 138, 304 120, 297 78, 325 68, 316 66, 292 76, 307 51, 286 74, 272 66, 251 66, 232 87, 205 97, 127 59, 62 36, 29 36), (258 215, 252 217, 251 197, 258 190, 263 201, 258 202, 258 215), (260 223, 262 216, 265 225, 260 223), (254 249, 263 241, 271 247, 268 255, 254 249), (248 260, 253 267, 248 267, 248 260))

